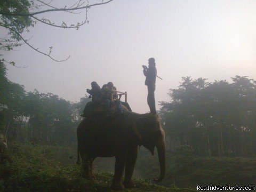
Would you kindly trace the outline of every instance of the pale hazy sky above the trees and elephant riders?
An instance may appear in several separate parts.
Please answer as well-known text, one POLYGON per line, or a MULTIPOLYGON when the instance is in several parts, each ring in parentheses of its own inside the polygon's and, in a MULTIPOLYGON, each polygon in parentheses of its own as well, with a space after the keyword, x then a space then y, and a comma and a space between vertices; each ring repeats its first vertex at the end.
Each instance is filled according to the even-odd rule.
MULTIPOLYGON (((73 1, 53 1, 55 6, 73 1), (63 2, 66 2, 63 3, 63 2)), ((74 1, 75 2, 75 1, 74 1)), ((101 1, 94 1, 101 2, 101 1)), ((90 3, 94 3, 90 1, 90 3)), ((7 65, 8 78, 27 91, 51 92, 78 101, 92 81, 112 81, 127 91, 133 111, 146 113, 147 87, 141 65, 156 59, 156 103, 169 101, 182 76, 227 79, 235 75, 256 79, 256 1, 120 1, 89 10, 89 25, 76 29, 37 23, 30 28, 30 44, 52 56, 70 59, 57 63, 23 45, 4 52, 19 69, 7 65)), ((85 13, 47 13, 55 23, 81 22, 85 13)), ((1 29, 2 30, 2 29, 1 29)), ((3 35, 1 31, 1 36, 3 35)), ((157 106, 159 109, 159 106, 157 106)))

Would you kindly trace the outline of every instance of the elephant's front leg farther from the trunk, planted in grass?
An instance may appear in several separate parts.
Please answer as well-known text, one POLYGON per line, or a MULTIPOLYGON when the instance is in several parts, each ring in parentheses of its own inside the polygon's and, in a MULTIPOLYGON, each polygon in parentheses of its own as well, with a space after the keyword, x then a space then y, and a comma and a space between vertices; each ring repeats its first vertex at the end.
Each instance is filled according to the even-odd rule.
POLYGON ((124 174, 124 166, 126 160, 126 153, 122 153, 116 156, 116 164, 115 164, 115 174, 111 184, 111 188, 115 190, 124 189, 124 185, 121 182, 122 176, 124 174))

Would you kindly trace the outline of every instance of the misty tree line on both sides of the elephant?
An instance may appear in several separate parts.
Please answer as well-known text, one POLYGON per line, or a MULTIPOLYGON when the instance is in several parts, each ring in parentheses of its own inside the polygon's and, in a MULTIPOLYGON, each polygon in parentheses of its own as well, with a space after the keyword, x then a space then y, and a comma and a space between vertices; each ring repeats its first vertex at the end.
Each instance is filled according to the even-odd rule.
MULTIPOLYGON (((182 77, 158 111, 170 151, 186 147, 201 156, 255 156, 256 81, 182 77)), ((76 145, 79 116, 90 99, 70 102, 52 93, 26 92, 10 82, 0 62, 0 133, 9 140, 76 145)))

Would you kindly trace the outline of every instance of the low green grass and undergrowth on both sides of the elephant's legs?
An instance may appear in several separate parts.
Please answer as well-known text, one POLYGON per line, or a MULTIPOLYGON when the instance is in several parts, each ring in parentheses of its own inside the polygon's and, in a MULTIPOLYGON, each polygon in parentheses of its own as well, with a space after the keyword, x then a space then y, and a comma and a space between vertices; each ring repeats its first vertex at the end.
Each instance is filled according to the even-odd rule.
MULTIPOLYGON (((194 157, 190 162, 178 163, 177 157, 186 159, 187 152, 179 156, 167 151, 166 177, 161 185, 171 188, 157 186, 149 180, 159 172, 157 155, 143 152, 136 167, 148 179, 135 179, 137 189, 124 191, 193 191, 178 187, 253 186, 256 182, 255 158, 194 157)), ((5 191, 106 191, 113 177, 113 172, 94 171, 94 182, 81 178, 80 167, 75 165, 76 150, 69 147, 12 142, 9 155, 12 163, 0 165, 0 189, 5 191)))

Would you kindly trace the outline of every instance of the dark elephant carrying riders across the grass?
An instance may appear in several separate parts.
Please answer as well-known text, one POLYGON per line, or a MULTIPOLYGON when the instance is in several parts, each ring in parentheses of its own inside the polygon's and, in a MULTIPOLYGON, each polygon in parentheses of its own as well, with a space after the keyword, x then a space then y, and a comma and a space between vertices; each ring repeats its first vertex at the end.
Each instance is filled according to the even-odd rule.
POLYGON ((92 163, 96 157, 114 157, 115 173, 112 189, 135 188, 132 175, 137 161, 139 146, 144 146, 154 155, 157 148, 160 182, 165 175, 165 135, 160 118, 154 114, 137 114, 125 111, 116 117, 84 119, 77 127, 77 159, 82 159, 82 176, 95 179, 92 163), (124 172, 125 170, 125 172, 124 172), (124 174, 124 181, 121 179, 124 174))

